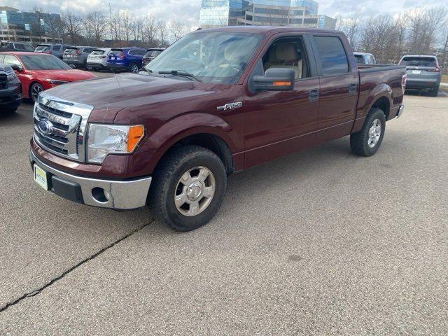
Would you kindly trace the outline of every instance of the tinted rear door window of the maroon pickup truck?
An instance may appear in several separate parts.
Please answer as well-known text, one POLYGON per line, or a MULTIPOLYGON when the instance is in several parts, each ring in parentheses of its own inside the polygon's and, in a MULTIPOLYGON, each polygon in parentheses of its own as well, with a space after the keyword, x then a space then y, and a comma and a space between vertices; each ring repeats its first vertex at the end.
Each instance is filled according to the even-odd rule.
POLYGON ((318 58, 323 75, 337 75, 349 72, 349 61, 344 45, 336 36, 314 36, 318 58))

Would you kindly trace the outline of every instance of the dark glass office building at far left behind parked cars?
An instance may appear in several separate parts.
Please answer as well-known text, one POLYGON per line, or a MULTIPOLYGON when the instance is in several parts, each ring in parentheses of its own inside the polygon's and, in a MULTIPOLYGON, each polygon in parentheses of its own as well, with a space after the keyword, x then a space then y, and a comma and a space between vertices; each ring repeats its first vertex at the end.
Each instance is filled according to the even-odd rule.
MULTIPOLYGON (((22 12, 16 8, 0 6, 0 40, 49 42, 50 24, 60 22, 59 14, 22 12)), ((57 38, 60 41, 60 38, 57 38)))

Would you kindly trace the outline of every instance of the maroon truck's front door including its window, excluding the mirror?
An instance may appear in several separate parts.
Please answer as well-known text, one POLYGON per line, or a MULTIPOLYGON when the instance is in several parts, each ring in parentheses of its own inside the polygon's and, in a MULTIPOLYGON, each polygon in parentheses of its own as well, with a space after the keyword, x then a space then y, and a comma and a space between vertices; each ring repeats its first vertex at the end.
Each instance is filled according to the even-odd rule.
POLYGON ((293 91, 248 94, 245 106, 245 167, 313 146, 318 117, 319 80, 310 68, 304 36, 274 39, 261 59, 262 71, 295 71, 293 91))

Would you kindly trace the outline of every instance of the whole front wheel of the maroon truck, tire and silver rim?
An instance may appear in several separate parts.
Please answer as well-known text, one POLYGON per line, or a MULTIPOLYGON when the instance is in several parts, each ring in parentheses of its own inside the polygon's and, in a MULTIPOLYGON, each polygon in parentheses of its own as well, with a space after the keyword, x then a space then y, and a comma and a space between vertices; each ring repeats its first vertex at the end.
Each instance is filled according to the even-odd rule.
POLYGON ((227 174, 218 156, 199 146, 173 148, 153 174, 148 204, 176 231, 200 228, 221 207, 227 174))

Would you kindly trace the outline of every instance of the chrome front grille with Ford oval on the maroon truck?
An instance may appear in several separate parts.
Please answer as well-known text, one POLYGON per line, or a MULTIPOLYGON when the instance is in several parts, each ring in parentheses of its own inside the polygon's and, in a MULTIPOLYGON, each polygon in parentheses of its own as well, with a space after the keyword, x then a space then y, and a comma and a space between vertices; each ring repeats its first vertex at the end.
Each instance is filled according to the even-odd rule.
POLYGON ((92 109, 41 92, 34 104, 34 140, 50 153, 85 162, 85 127, 92 109))

